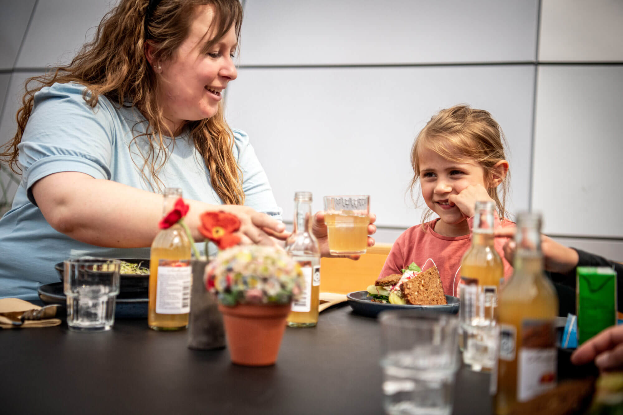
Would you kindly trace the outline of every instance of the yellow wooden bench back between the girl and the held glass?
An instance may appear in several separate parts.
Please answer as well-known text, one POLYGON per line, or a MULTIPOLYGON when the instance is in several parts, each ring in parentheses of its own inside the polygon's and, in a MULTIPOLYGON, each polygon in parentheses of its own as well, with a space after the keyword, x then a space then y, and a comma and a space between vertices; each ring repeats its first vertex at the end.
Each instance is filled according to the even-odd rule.
POLYGON ((369 247, 359 260, 322 258, 320 292, 348 294, 363 291, 379 277, 392 244, 369 247))

